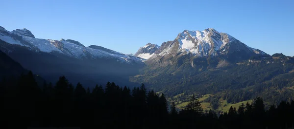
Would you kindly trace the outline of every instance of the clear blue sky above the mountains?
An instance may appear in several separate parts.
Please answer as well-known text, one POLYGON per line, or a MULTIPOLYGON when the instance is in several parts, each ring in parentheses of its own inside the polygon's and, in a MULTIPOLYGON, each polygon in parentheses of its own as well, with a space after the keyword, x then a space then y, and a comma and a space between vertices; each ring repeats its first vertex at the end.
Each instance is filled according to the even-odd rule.
POLYGON ((294 0, 0 0, 0 26, 135 53, 215 28, 268 54, 294 55, 294 0))

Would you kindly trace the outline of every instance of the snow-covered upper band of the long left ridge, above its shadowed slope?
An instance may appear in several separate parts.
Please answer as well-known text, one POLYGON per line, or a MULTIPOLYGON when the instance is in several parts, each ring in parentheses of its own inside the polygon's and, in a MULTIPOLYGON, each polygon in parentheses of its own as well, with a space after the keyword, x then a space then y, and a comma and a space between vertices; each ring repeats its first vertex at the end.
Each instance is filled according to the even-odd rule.
MULTIPOLYGON (((0 39, 15 45, 25 46, 33 51, 46 53, 57 52, 75 58, 116 58, 121 62, 142 62, 142 58, 115 52, 100 46, 85 47, 78 41, 72 39, 40 39, 27 29, 16 29, 12 32, 0 27, 0 39)), ((13 51, 13 50, 7 50, 13 51)))

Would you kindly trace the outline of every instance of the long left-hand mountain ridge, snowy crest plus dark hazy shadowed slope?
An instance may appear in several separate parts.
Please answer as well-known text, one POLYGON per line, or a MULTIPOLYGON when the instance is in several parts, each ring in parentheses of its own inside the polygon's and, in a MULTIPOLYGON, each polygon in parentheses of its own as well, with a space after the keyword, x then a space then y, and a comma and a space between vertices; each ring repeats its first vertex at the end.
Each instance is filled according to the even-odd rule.
POLYGON ((137 74, 145 60, 100 46, 84 47, 72 39, 34 38, 27 29, 10 32, 3 27, 0 27, 0 50, 49 81, 66 75, 73 83, 89 82, 89 86, 107 81, 130 85, 128 76, 137 74))

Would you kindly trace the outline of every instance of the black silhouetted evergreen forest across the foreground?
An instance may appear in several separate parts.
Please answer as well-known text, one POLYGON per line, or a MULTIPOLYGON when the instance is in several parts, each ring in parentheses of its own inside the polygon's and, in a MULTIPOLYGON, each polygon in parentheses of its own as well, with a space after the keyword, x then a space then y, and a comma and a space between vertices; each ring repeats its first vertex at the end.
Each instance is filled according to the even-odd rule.
POLYGON ((86 88, 65 76, 38 85, 32 72, 0 82, 1 126, 81 129, 287 129, 293 128, 294 101, 265 108, 261 97, 228 112, 203 111, 195 95, 177 111, 164 94, 108 82, 86 88))

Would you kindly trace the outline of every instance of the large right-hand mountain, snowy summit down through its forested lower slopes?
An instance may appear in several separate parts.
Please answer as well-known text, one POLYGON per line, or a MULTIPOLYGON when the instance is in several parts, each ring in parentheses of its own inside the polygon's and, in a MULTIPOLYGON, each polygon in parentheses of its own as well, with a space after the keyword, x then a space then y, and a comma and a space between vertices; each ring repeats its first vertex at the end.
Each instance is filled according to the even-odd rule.
POLYGON ((130 81, 145 83, 179 105, 191 94, 212 95, 207 102, 227 103, 262 95, 275 104, 294 95, 293 57, 268 55, 211 28, 179 33, 174 40, 163 42, 145 63, 130 81))

